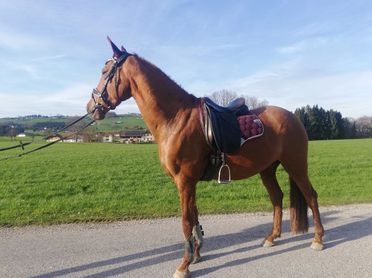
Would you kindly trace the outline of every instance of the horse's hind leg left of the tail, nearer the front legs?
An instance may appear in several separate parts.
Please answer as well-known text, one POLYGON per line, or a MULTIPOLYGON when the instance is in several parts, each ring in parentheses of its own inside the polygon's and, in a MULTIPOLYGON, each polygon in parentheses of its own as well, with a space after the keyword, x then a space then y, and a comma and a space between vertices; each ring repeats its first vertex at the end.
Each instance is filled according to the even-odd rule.
POLYGON ((274 220, 272 222, 271 233, 263 242, 264 247, 274 245, 274 239, 280 237, 282 233, 282 210, 283 210, 283 192, 280 189, 276 179, 276 168, 279 166, 279 161, 275 161, 268 168, 260 173, 263 184, 269 192, 272 206, 274 207, 274 220))

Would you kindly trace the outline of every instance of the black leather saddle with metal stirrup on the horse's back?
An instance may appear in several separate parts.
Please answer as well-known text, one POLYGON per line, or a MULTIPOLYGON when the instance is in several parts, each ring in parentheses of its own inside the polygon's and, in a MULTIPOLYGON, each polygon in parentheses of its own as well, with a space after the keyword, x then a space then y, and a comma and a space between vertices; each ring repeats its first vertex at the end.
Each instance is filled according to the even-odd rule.
POLYGON ((205 140, 213 149, 210 161, 204 171, 201 181, 211 181, 220 168, 220 184, 231 182, 230 168, 225 163, 225 155, 236 152, 241 144, 240 126, 237 117, 247 114, 249 111, 244 98, 240 97, 222 107, 214 103, 210 98, 203 98, 203 120, 205 140), (222 168, 226 167, 229 179, 220 180, 222 168))

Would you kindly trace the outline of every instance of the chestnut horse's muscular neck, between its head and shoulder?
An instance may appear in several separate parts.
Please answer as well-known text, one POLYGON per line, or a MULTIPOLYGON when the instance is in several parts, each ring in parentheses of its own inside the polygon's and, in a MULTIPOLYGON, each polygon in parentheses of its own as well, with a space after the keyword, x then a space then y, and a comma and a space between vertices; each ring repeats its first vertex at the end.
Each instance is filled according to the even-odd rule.
POLYGON ((182 111, 196 107, 197 98, 188 94, 160 69, 151 63, 136 58, 133 68, 132 96, 154 134, 169 132, 172 124, 179 120, 182 111))

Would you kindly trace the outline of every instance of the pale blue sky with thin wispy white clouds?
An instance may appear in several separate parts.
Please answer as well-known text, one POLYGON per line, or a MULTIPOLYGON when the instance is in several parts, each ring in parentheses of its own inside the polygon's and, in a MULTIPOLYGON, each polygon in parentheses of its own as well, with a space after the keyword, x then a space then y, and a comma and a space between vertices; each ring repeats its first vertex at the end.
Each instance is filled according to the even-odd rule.
MULTIPOLYGON (((370 0, 11 0, 0 11, 0 118, 84 115, 107 35, 199 97, 226 89, 372 115, 370 0)), ((133 99, 116 110, 136 111, 133 99)))

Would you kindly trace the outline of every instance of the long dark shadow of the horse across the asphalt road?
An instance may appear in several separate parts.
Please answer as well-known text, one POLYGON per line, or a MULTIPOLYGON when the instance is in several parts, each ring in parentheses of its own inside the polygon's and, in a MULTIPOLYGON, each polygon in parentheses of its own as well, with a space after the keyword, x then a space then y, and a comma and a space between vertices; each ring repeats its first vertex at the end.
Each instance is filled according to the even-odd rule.
MULTIPOLYGON (((332 248, 344 242, 350 242, 353 240, 357 240, 357 239, 363 238, 371 234, 370 228, 372 227, 372 217, 363 218, 360 220, 358 216, 355 216, 354 217, 355 221, 351 223, 327 229, 327 223, 331 223, 338 219, 338 217, 335 216, 337 213, 338 211, 330 211, 330 212, 323 212, 321 214, 323 226, 325 229, 325 236, 324 236, 325 248, 332 248)), ((312 220, 309 221, 309 224, 310 224, 310 227, 313 226, 312 220)), ((240 245, 245 242, 257 240, 259 238, 263 239, 265 235, 267 235, 271 231, 271 225, 272 223, 270 222, 270 223, 265 223, 262 225, 257 225, 249 229, 242 230, 241 232, 229 233, 229 234, 212 236, 212 237, 206 236, 205 237, 205 246, 206 246, 205 251, 218 251, 225 247, 232 247, 235 245, 240 245), (263 231, 265 231, 265 235, 263 235, 263 231)), ((283 221, 283 231, 285 232, 288 230, 289 230, 289 220, 285 220, 283 221)), ((271 247, 273 252, 269 254, 262 254, 258 256, 247 257, 247 258, 234 260, 228 263, 216 265, 216 266, 209 267, 209 268, 194 270, 193 276, 199 277, 199 276, 206 275, 208 273, 217 271, 221 268, 232 267, 232 266, 236 266, 236 265, 240 265, 244 263, 249 263, 255 260, 259 260, 263 257, 275 256, 275 255, 291 252, 291 251, 302 249, 302 248, 308 248, 311 245, 313 236, 314 236, 313 232, 310 232, 310 233, 302 234, 302 235, 293 235, 286 239, 280 239, 277 241, 276 243, 277 245, 284 245, 289 242, 303 241, 303 240, 306 240, 308 242, 300 243, 296 246, 288 247, 286 249, 281 249, 277 251, 275 251, 274 249, 275 247, 271 247)), ((254 250, 256 248, 261 248, 261 245, 237 248, 232 251, 221 250, 221 252, 217 252, 217 253, 215 252, 214 254, 209 254, 205 256, 203 256, 202 254, 203 256, 202 262, 213 260, 213 259, 224 257, 224 256, 229 256, 235 253, 247 252, 250 250, 254 250)), ((184 252, 184 243, 179 243, 179 244, 169 245, 167 247, 154 248, 152 250, 139 252, 139 253, 135 253, 131 255, 126 255, 126 256, 122 256, 118 258, 113 258, 113 259, 104 260, 100 262, 88 263, 88 264, 79 265, 76 267, 62 269, 62 270, 46 273, 43 275, 34 276, 33 278, 59 277, 59 276, 73 274, 73 273, 77 273, 77 272, 85 271, 89 269, 100 268, 100 267, 109 266, 109 265, 115 265, 117 263, 124 263, 124 262, 133 261, 133 260, 141 260, 139 262, 126 264, 125 266, 110 269, 107 271, 101 271, 99 273, 86 276, 89 278, 111 277, 114 275, 124 274, 126 272, 129 272, 135 269, 140 269, 144 266, 156 265, 159 263, 167 263, 169 261, 174 260, 175 258, 179 258, 180 263, 181 263, 183 252, 184 252)))

